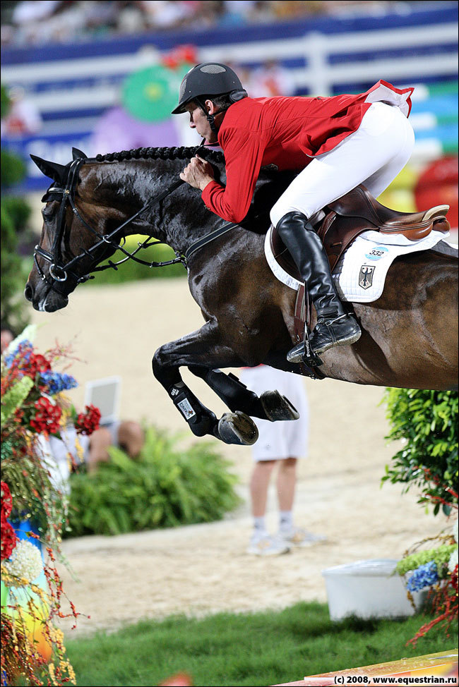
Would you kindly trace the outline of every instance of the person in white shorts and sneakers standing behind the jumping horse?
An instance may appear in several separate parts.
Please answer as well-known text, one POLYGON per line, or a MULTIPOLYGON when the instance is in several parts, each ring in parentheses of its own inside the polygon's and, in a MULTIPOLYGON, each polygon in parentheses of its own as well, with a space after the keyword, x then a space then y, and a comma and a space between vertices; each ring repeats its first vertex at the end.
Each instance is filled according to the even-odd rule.
POLYGON ((324 537, 297 527, 293 519, 297 460, 306 455, 309 437, 309 406, 302 378, 268 365, 258 365, 244 368, 241 381, 258 396, 267 389, 278 389, 299 412, 299 420, 285 422, 253 418, 259 437, 252 446, 255 464, 250 480, 250 495, 254 531, 247 553, 277 556, 288 553, 290 547, 306 547, 322 541, 324 537), (279 530, 277 534, 270 535, 266 528, 266 504, 270 478, 276 464, 279 530))

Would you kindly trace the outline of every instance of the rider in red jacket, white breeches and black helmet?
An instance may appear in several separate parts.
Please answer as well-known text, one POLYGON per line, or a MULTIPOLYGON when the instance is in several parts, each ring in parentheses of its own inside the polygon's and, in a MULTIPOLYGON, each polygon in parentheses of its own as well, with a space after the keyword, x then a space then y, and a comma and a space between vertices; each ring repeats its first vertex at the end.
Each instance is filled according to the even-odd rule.
MULTIPOLYGON (((299 170, 270 211, 317 312, 311 348, 322 353, 354 343, 361 330, 340 302, 314 224, 321 209, 363 183, 377 197, 405 166, 414 134, 407 121, 412 88, 378 81, 359 95, 249 98, 225 64, 205 62, 181 82, 172 114, 189 112, 190 126, 225 153, 226 186, 193 157, 180 178, 202 191, 205 206, 227 221, 246 216, 261 166, 299 170)), ((320 213, 320 214, 319 214, 320 213)), ((303 360, 304 343, 287 354, 303 360)))

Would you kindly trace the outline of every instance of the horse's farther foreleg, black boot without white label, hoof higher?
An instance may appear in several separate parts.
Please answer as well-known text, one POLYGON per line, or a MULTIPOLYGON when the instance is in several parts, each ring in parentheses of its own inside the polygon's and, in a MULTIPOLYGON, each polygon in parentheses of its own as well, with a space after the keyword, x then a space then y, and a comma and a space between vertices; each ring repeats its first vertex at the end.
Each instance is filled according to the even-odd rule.
POLYGON ((196 377, 201 377, 230 411, 242 411, 252 418, 270 422, 299 418, 297 409, 279 391, 264 391, 258 397, 231 372, 227 375, 222 370, 209 370, 200 365, 190 365, 189 370, 196 377))

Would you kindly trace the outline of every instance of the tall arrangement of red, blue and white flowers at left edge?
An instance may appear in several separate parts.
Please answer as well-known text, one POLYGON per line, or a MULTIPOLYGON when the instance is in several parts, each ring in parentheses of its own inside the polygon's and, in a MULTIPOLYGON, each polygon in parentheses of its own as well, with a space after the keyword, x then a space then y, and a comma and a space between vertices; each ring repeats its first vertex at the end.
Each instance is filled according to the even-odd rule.
POLYGON ((68 422, 91 434, 100 412, 87 406, 76 413, 64 396, 76 379, 53 369, 70 351, 37 353, 34 334, 26 327, 1 356, 1 681, 60 685, 75 676, 53 620, 78 613, 71 602, 71 614, 61 611, 56 557, 68 526, 67 496, 52 479, 42 441, 60 438, 68 422), (13 527, 20 521, 30 530, 25 540, 13 527))

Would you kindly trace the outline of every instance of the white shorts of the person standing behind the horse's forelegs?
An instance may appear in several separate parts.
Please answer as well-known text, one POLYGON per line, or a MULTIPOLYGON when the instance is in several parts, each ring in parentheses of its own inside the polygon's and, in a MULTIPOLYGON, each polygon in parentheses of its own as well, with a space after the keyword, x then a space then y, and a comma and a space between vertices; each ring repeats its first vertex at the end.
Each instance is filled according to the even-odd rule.
POLYGON ((254 461, 277 461, 285 458, 303 458, 307 455, 309 439, 309 405, 304 390, 304 379, 290 372, 275 370, 268 365, 244 368, 241 381, 258 396, 263 391, 277 389, 287 396, 299 412, 299 420, 269 422, 252 418, 260 436, 252 446, 254 461))

